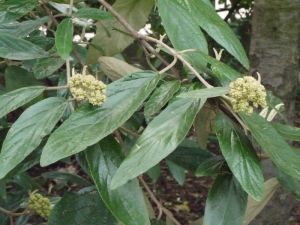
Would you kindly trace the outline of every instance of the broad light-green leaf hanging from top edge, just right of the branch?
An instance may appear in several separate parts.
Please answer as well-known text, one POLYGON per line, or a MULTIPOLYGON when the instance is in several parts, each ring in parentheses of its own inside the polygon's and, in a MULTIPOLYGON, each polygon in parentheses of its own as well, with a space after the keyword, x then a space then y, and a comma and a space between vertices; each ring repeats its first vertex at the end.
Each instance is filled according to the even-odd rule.
MULTIPOLYGON (((157 1, 167 35, 176 50, 196 49, 207 54, 207 42, 199 28, 197 17, 183 5, 184 3, 180 4, 178 1, 157 1)), ((206 64, 195 52, 184 53, 184 57, 192 65, 206 64)))

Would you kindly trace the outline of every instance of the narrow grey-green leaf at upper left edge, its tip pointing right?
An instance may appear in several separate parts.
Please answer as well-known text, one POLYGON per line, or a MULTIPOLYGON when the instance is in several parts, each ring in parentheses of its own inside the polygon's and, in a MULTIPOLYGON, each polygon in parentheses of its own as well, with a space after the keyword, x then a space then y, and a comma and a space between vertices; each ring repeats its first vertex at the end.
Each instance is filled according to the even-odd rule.
POLYGON ((24 38, 32 31, 41 27, 44 23, 46 23, 50 19, 49 16, 36 19, 36 20, 27 20, 21 23, 0 23, 0 33, 9 34, 14 37, 24 38))

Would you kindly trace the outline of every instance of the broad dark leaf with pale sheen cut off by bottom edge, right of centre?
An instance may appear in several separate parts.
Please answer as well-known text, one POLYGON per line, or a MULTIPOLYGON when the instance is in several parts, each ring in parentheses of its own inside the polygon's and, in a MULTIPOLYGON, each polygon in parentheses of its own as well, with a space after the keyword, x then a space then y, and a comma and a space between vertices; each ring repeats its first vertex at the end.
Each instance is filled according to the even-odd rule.
POLYGON ((232 174, 219 174, 211 187, 204 212, 204 225, 241 225, 247 193, 232 174))

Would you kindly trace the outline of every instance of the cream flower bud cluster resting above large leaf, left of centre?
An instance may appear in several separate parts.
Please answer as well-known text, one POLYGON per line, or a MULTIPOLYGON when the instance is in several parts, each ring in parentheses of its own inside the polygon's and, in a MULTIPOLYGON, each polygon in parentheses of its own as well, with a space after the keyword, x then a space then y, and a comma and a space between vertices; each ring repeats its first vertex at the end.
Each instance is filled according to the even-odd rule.
POLYGON ((78 101, 88 99, 92 105, 100 106, 106 100, 106 85, 92 75, 75 74, 68 85, 78 101))

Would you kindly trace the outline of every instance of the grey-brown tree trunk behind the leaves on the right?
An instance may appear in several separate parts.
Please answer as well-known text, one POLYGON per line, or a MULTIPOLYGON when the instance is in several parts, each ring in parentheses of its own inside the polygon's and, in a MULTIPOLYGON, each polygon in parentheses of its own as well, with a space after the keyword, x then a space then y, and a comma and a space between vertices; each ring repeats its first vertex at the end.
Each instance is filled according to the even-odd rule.
MULTIPOLYGON (((284 115, 293 124, 299 74, 299 0, 256 0, 252 18, 250 74, 259 72, 267 90, 283 100, 284 115)), ((277 117, 277 120, 280 118, 277 117)), ((265 179, 274 177, 270 160, 262 162, 265 179)), ((297 204, 293 196, 278 189, 251 225, 286 225, 290 210, 297 204)))

